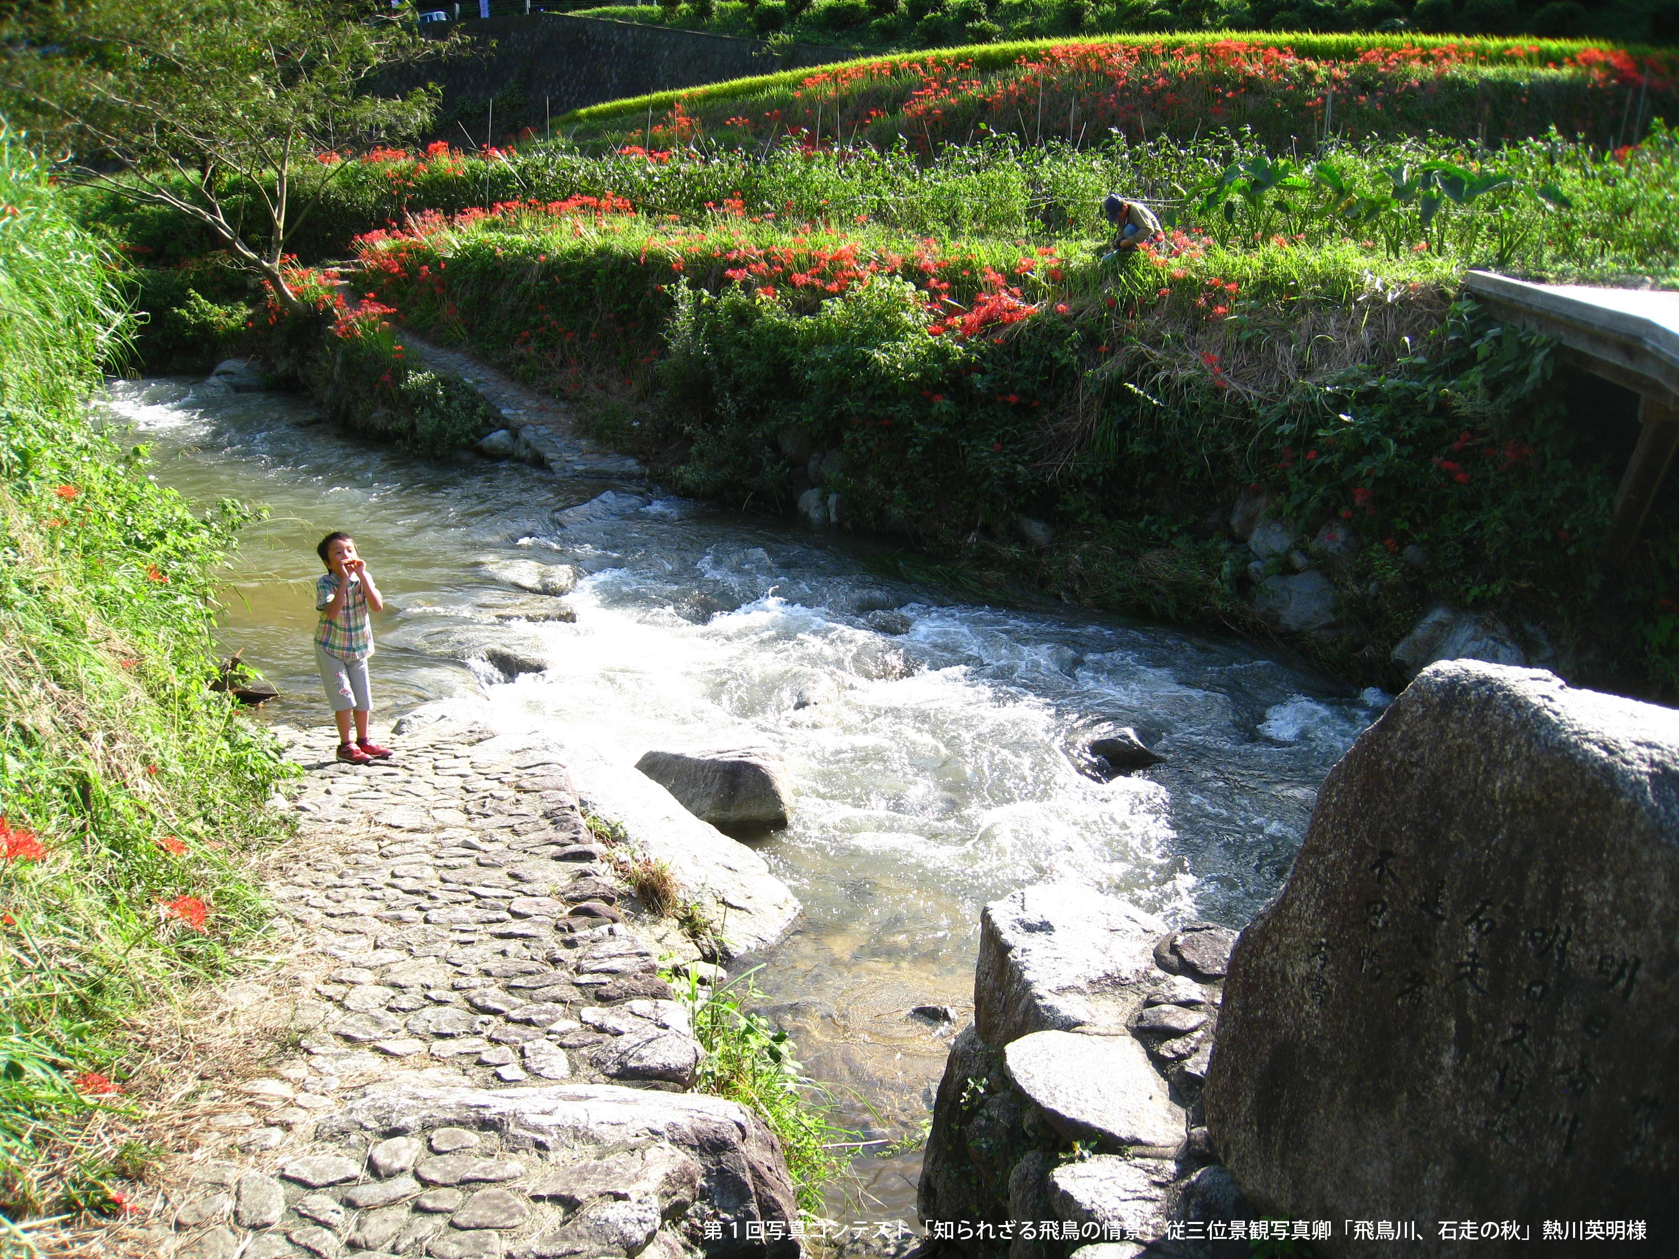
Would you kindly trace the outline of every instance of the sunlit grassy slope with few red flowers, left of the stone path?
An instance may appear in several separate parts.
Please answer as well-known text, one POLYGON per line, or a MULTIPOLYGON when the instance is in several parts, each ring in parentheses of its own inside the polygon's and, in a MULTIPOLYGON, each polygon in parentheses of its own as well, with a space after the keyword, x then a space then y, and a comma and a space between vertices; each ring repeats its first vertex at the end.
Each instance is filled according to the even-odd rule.
MULTIPOLYGON (((138 1017, 264 922, 275 752, 207 690, 196 519, 87 420, 129 321, 45 176, 0 139, 0 1215, 119 1210, 151 1158, 124 1081, 138 1017)), ((0 1235, 15 1229, 0 1224, 0 1235)))

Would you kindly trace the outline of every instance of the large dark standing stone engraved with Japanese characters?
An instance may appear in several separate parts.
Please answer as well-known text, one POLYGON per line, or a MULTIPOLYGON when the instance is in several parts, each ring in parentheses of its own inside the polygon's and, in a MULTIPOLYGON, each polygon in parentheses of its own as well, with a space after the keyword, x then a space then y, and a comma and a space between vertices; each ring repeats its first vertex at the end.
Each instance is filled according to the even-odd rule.
POLYGON ((1204 1100, 1264 1214, 1676 1235, 1679 713, 1424 670, 1242 932, 1204 1100))

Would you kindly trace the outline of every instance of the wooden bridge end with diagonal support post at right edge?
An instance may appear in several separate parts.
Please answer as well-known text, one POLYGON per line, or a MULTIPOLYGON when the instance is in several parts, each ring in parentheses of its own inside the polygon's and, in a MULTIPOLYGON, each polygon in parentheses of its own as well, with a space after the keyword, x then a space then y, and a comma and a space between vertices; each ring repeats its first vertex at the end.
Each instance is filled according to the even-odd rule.
POLYGON ((1506 319, 1556 337, 1585 371, 1639 394, 1639 445, 1615 492, 1603 566, 1632 552, 1679 450, 1679 292, 1528 284, 1472 270, 1464 289, 1506 319))

